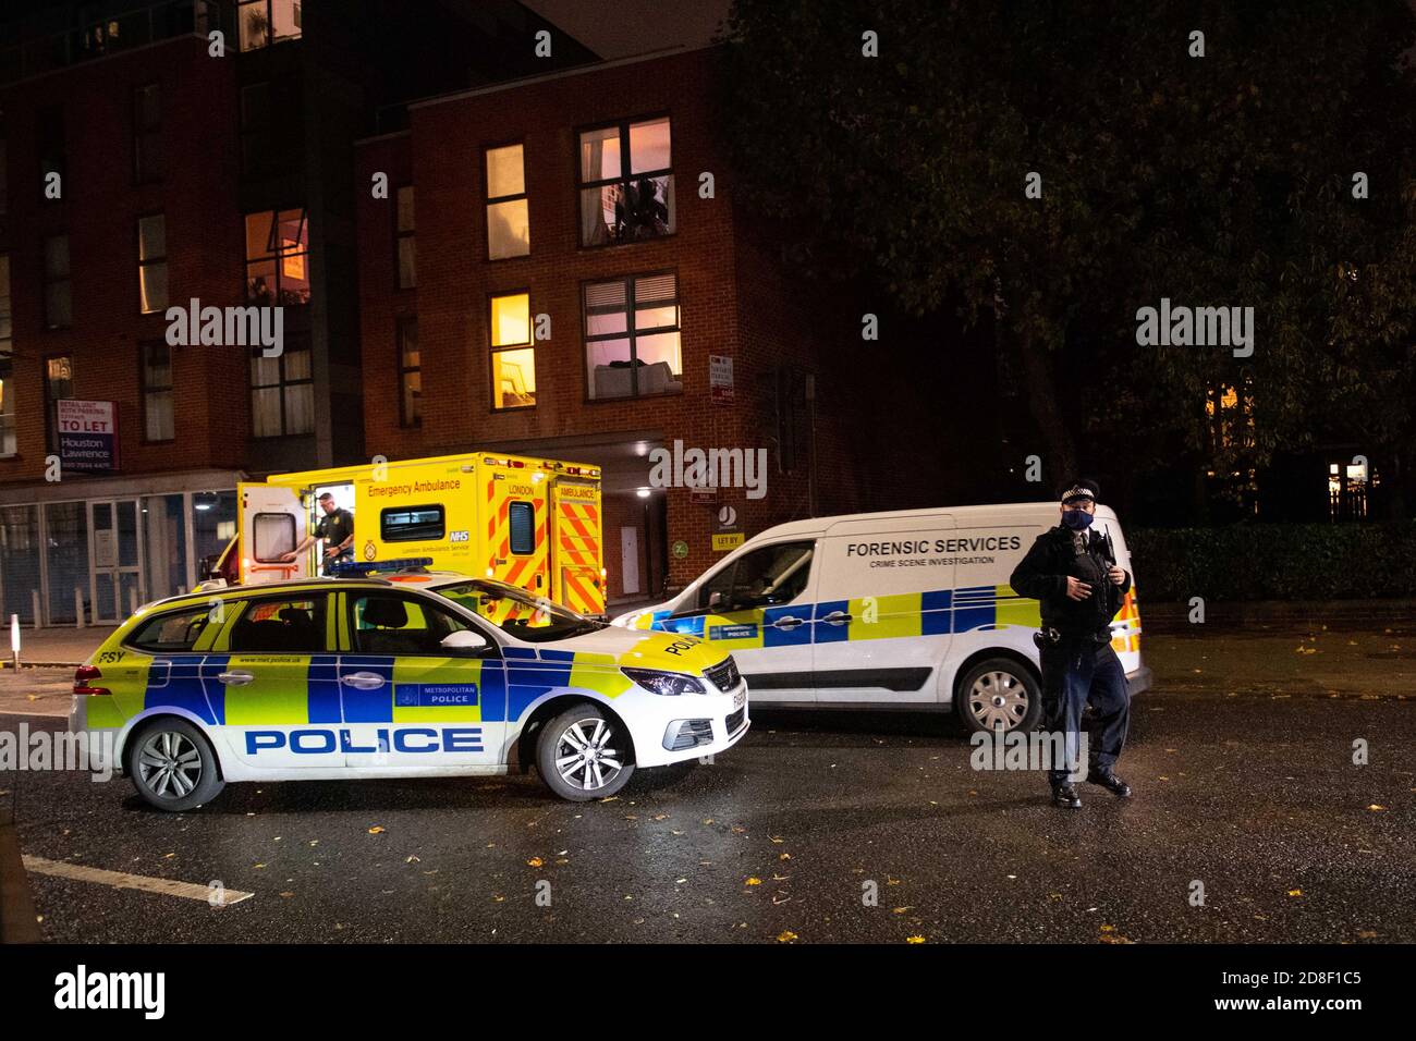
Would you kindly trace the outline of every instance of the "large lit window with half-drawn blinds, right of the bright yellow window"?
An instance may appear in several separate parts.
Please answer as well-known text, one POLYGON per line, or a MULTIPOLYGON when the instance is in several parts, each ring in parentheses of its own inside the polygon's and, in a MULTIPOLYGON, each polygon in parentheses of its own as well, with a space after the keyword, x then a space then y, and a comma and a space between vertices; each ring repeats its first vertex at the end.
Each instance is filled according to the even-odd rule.
POLYGON ((677 276, 586 283, 585 364, 593 399, 681 391, 677 276))

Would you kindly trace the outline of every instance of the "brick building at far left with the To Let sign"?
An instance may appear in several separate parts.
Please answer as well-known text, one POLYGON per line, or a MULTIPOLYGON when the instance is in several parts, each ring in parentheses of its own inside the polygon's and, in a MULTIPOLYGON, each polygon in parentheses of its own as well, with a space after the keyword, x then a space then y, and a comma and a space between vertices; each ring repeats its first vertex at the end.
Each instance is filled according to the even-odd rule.
POLYGON ((595 55, 513 0, 0 18, 0 609, 116 620, 191 588, 245 476, 364 457, 353 142, 409 98, 595 55), (193 299, 279 305, 280 355, 170 346, 193 299), (59 443, 81 412, 88 457, 59 443))

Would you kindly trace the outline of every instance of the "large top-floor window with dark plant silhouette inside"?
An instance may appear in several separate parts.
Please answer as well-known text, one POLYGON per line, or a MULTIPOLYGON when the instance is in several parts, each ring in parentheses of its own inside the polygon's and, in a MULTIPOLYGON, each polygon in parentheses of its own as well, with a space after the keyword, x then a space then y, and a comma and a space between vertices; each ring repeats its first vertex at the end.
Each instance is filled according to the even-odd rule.
POLYGON ((668 116, 581 133, 581 245, 674 234, 668 116))

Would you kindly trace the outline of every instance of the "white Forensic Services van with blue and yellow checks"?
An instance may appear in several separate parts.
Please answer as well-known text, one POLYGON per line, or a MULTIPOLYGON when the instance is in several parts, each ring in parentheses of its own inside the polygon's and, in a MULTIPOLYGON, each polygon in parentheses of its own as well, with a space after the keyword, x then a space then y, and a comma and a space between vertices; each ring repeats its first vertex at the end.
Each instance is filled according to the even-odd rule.
MULTIPOLYGON (((1028 729, 1041 717, 1039 605, 1008 576, 1058 520, 1056 503, 1005 503, 779 524, 615 623, 721 644, 758 705, 954 705, 971 729, 1028 729)), ((1095 524, 1131 571, 1116 514, 1097 506, 1095 524)), ((1112 622, 1133 694, 1151 681, 1140 632, 1133 572, 1112 622)))

